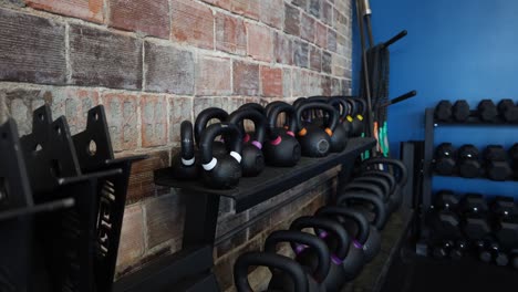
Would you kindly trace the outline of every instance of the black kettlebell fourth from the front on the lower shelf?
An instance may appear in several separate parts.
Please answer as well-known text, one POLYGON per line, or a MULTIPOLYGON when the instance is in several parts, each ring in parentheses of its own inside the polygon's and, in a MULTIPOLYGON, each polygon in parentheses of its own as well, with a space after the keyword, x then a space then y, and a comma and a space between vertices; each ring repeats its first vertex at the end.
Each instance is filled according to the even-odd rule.
POLYGON ((349 234, 354 234, 353 243, 363 250, 365 262, 371 262, 380 252, 381 234, 359 210, 341 206, 324 206, 314 215, 333 218, 345 227, 349 234), (354 226, 351 227, 349 222, 353 222, 354 226))

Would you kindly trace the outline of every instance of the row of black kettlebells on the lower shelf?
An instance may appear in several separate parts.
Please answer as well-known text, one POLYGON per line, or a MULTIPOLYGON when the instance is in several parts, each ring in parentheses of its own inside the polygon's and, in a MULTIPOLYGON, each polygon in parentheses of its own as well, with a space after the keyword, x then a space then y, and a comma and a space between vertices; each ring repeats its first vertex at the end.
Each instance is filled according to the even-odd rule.
POLYGON ((380 252, 381 231, 401 206, 406 171, 400 160, 365 160, 355 178, 338 191, 332 206, 296 219, 289 230, 273 231, 262 252, 244 253, 237 259, 237 291, 252 291, 248 282, 250 267, 270 269, 272 278, 266 291, 340 291, 380 252), (392 168, 393 174, 380 170, 380 165, 392 168), (313 232, 305 232, 308 229, 313 232), (280 243, 289 243, 294 255, 278 254, 280 243))

